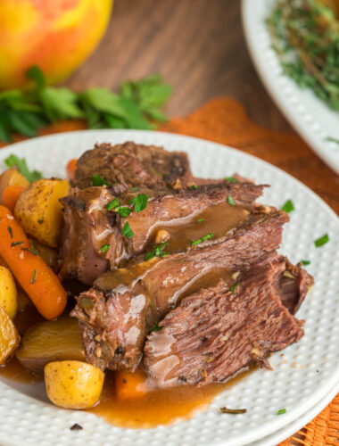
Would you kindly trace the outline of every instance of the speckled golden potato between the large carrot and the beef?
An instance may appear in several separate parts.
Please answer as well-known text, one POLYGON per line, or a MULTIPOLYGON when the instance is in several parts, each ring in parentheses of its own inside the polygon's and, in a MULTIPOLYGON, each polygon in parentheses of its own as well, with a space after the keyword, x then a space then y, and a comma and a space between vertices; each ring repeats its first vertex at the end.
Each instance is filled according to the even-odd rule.
POLYGON ((15 218, 26 234, 51 248, 57 247, 62 226, 62 204, 59 199, 69 193, 65 179, 39 179, 20 196, 15 206, 15 218))

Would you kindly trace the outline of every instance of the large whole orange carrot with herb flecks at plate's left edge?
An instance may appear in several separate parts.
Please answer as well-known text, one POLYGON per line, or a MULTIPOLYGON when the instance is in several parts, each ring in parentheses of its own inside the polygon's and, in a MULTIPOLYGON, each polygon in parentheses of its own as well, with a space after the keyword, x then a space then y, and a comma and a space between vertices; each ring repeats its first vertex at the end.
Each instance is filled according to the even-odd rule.
POLYGON ((0 206, 0 256, 37 310, 44 318, 54 319, 62 314, 67 294, 53 270, 36 254, 12 212, 0 206))

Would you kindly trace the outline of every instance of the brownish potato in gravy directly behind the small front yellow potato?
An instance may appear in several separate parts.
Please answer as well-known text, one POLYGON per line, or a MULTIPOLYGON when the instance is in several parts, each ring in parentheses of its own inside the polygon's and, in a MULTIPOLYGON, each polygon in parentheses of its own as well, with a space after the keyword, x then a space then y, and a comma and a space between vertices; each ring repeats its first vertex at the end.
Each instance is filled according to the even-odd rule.
POLYGON ((85 360, 78 320, 65 316, 32 326, 22 336, 15 356, 22 366, 39 375, 49 362, 65 359, 85 360))

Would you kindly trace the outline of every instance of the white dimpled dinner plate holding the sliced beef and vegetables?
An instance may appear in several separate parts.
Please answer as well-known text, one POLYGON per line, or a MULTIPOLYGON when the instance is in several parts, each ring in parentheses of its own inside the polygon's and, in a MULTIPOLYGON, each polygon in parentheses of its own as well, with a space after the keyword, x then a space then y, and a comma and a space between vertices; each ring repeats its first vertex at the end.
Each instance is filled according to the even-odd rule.
POLYGON ((0 151, 0 169, 10 154, 24 156, 45 177, 63 177, 64 167, 95 142, 128 140, 188 153, 195 176, 223 178, 235 171, 272 185, 263 202, 280 207, 293 199, 295 211, 285 226, 281 252, 290 260, 310 260, 315 285, 298 318, 305 335, 273 355, 273 371, 257 370, 219 394, 209 409, 190 420, 153 429, 122 429, 81 411, 58 409, 45 400, 41 387, 0 381, 0 443, 21 445, 119 444, 119 446, 214 446, 254 442, 289 425, 313 408, 339 383, 339 219, 310 189, 265 161, 224 145, 188 136, 134 130, 95 130, 44 136, 0 151), (316 248, 327 233, 330 242, 316 248), (283 354, 283 356, 282 356, 283 354), (246 408, 239 416, 221 415, 219 407, 246 408), (286 413, 277 416, 279 409, 286 413), (71 432, 78 422, 82 431, 71 432))

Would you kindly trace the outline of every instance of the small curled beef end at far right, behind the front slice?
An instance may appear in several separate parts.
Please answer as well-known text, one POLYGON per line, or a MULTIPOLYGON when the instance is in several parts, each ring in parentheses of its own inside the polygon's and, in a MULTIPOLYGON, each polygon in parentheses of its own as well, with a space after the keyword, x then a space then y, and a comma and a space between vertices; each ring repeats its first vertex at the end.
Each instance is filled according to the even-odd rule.
POLYGON ((278 277, 278 294, 285 307, 295 314, 302 305, 314 279, 301 265, 293 265, 285 259, 285 271, 278 277))

